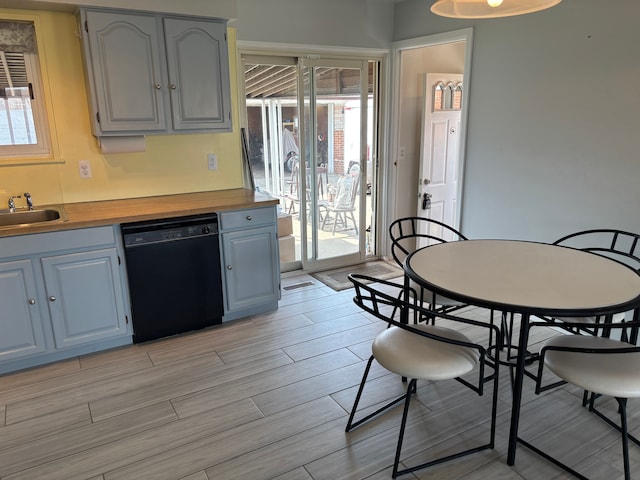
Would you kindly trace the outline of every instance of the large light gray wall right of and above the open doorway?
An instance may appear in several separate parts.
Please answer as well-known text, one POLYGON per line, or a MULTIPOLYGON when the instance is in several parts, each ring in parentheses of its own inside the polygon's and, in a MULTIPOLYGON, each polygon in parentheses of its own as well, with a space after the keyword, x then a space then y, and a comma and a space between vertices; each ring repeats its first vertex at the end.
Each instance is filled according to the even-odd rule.
POLYGON ((640 232, 640 2, 563 0, 482 21, 429 6, 397 4, 394 40, 474 28, 462 231, 640 232))

